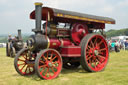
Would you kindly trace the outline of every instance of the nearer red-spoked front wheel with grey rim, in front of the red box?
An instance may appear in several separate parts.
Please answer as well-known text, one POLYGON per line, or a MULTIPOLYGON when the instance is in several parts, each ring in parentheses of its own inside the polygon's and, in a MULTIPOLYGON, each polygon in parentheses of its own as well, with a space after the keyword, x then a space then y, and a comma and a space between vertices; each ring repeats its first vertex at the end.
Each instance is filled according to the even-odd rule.
POLYGON ((53 49, 42 50, 36 58, 35 70, 42 79, 56 78, 62 69, 61 55, 53 49))

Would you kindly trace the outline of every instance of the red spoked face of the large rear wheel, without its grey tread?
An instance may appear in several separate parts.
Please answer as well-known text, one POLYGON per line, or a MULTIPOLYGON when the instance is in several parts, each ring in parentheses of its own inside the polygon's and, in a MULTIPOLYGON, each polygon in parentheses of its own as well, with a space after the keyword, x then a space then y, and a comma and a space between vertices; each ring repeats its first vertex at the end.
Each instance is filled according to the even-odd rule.
POLYGON ((108 46, 102 36, 95 35, 89 39, 85 50, 86 61, 93 71, 101 71, 108 61, 108 46))

